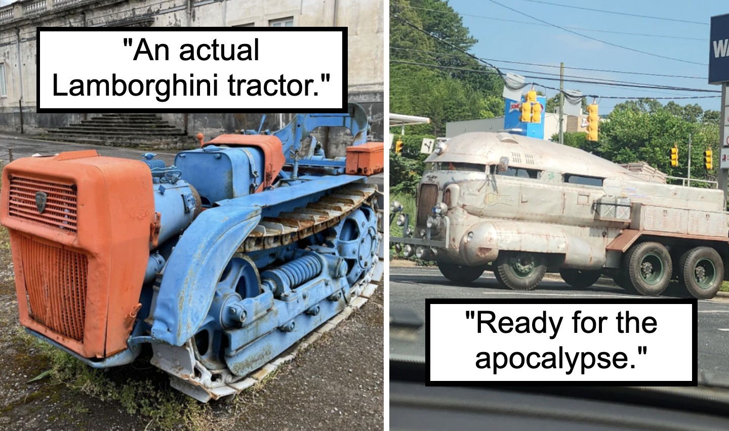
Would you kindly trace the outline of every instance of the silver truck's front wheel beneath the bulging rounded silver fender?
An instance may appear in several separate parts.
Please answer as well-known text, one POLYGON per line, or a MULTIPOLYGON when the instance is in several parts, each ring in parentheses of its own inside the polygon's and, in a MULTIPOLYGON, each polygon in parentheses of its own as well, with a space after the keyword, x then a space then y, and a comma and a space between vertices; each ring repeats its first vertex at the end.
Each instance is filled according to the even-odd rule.
POLYGON ((496 261, 496 280, 512 290, 534 290, 547 272, 545 256, 538 253, 504 253, 496 261))

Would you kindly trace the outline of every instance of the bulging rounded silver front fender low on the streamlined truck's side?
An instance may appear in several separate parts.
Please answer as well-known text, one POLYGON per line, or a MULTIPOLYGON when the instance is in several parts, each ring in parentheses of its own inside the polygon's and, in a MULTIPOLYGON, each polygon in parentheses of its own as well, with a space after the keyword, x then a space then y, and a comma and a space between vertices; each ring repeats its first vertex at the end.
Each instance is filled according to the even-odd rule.
POLYGON ((475 224, 461 238, 459 250, 469 265, 494 261, 504 250, 561 254, 564 255, 562 266, 567 268, 599 269, 605 264, 604 249, 557 226, 529 221, 475 224))

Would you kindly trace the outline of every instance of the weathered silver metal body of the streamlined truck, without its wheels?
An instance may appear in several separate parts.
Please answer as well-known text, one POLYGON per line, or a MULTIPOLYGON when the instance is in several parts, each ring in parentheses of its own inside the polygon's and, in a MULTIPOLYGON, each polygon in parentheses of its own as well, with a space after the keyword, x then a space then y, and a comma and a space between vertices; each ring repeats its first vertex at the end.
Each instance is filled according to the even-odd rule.
POLYGON ((621 235, 628 227, 695 240, 725 242, 729 237, 722 191, 650 182, 557 143, 466 133, 448 140, 426 164, 421 188, 429 189, 418 194, 414 232, 416 239, 428 237, 427 216, 420 216, 431 213, 443 192, 450 232, 430 238, 448 247, 429 245, 437 248, 438 260, 483 264, 494 261, 499 250, 521 250, 564 256, 565 268, 598 269, 607 251, 622 253, 634 242, 637 234, 621 235), (496 168, 503 158, 508 158, 508 172, 496 168), (463 163, 481 164, 483 172, 459 170, 463 163), (575 175, 588 178, 574 183, 575 175))

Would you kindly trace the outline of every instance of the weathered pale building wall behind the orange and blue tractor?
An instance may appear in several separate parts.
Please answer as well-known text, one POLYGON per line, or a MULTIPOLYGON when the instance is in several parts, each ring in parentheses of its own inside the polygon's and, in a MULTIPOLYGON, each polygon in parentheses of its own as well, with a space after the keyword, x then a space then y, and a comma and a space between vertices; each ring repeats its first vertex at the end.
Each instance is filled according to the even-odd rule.
MULTIPOLYGON (((0 8, 0 63, 5 65, 7 97, 0 97, 0 130, 28 133, 61 127, 84 114, 36 114, 36 27, 39 26, 268 26, 270 20, 292 17, 294 26, 348 28, 348 98, 362 104, 373 119, 370 135, 383 140, 384 10, 379 0, 22 0, 0 8), (12 12, 12 17, 10 13, 12 12), (18 56, 20 45, 20 57, 18 56), (20 64, 20 71, 18 65, 20 64), (21 92, 21 77, 22 87, 21 92)), ((312 60, 326 55, 311 47, 312 60)), ((89 53, 93 55, 93 53, 89 53)), ((285 55, 282 52, 281 55, 285 55)), ((93 114, 88 114, 93 115, 93 114)), ((273 114, 278 118, 278 114, 273 114)), ((183 128, 183 114, 165 114, 183 128)), ((257 129, 246 114, 194 114, 188 132, 206 136, 240 129, 257 129)), ((260 115, 258 115, 260 121, 260 115)), ((270 127, 276 128, 276 127, 270 127)))

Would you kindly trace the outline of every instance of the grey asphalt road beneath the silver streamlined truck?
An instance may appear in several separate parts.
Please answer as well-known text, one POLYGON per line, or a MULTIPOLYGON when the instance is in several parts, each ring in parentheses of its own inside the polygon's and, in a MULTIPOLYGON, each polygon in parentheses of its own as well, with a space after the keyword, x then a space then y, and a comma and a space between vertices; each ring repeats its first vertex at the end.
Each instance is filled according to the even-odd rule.
MULTIPOLYGON (((659 298, 671 298, 660 296, 659 298)), ((673 296, 675 297, 675 296, 673 296)), ((390 266, 390 315, 408 309, 425 320, 426 298, 625 298, 645 296, 626 293, 608 285, 574 289, 560 280, 545 280, 536 290, 515 292, 496 282, 491 272, 470 286, 456 285, 437 268, 390 266)), ((391 328, 391 355, 425 355, 425 328, 417 332, 391 328)), ((698 369, 729 377, 729 298, 716 297, 698 301, 698 369)))

